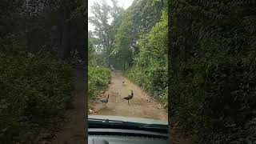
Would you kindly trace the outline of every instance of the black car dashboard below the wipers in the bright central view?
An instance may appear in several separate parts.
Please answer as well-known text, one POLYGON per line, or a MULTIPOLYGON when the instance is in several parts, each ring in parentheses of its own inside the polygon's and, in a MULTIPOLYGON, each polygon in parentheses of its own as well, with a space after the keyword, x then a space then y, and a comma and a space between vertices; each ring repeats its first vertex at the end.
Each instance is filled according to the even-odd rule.
POLYGON ((166 144, 168 135, 144 130, 88 129, 88 144, 166 144))

